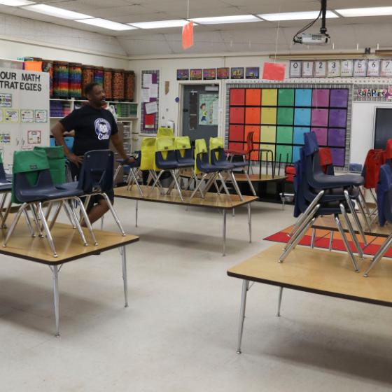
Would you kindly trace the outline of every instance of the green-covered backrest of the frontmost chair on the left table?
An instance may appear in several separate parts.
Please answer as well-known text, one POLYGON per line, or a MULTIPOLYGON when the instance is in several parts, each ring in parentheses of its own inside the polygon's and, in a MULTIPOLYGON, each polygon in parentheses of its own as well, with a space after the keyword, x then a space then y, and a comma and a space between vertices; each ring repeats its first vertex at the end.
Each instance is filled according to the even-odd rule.
POLYGON ((23 203, 25 190, 52 186, 49 161, 43 150, 15 151, 13 153, 12 202, 23 203))

